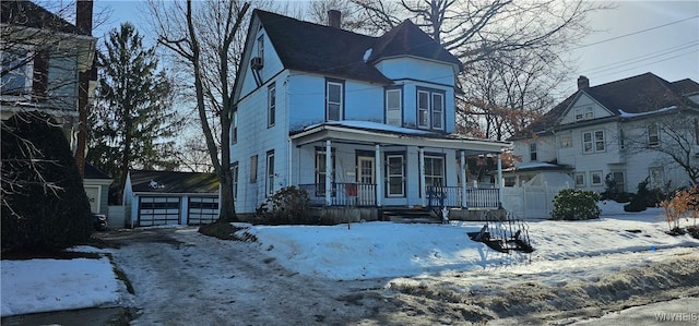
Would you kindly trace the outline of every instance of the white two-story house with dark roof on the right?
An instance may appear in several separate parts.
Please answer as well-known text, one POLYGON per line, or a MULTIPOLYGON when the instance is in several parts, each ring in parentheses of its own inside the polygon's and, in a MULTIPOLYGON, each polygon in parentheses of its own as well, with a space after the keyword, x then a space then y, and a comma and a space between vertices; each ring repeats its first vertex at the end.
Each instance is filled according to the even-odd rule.
POLYGON ((647 178, 650 188, 687 186, 686 170, 663 152, 699 166, 699 84, 644 73, 590 87, 580 76, 576 93, 511 141, 522 160, 506 173, 510 184, 567 171, 571 186, 595 192, 607 178, 619 192, 647 178))

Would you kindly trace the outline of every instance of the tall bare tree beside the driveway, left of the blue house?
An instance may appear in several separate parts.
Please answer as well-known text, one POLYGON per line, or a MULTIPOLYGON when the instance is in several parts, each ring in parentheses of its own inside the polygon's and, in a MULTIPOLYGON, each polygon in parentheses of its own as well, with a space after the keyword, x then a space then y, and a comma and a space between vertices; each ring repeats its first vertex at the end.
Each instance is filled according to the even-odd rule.
POLYGON ((199 120, 221 183, 218 219, 236 220, 228 134, 234 110, 234 73, 239 61, 236 46, 241 44, 236 40, 250 4, 235 0, 150 4, 157 22, 158 43, 187 62, 193 74, 199 120), (216 117, 220 133, 214 133, 210 112, 216 117))

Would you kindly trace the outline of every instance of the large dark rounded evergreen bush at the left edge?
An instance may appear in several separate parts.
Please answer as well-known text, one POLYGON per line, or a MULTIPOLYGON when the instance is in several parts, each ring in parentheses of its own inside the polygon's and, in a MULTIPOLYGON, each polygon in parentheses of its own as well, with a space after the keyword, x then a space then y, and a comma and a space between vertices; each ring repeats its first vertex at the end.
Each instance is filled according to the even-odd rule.
POLYGON ((85 243, 90 203, 63 132, 42 113, 2 124, 2 249, 42 252, 85 243))

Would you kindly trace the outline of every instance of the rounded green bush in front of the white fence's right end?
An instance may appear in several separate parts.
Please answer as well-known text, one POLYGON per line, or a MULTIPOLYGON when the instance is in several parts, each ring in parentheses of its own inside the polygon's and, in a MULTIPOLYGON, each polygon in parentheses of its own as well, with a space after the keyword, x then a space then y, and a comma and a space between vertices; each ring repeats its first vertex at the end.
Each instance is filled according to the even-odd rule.
POLYGON ((599 218, 600 195, 592 191, 564 189, 554 197, 554 219, 580 220, 599 218))

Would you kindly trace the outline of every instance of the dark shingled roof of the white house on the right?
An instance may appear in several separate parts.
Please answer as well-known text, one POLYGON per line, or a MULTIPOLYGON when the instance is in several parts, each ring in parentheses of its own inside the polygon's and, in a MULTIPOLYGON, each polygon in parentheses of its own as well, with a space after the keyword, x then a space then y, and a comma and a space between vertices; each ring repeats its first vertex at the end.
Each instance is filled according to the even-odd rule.
POLYGON ((650 72, 584 89, 578 89, 546 114, 532 122, 526 129, 513 135, 510 140, 528 138, 534 134, 550 132, 558 125, 568 107, 581 93, 588 94, 607 108, 614 116, 619 117, 619 110, 626 113, 643 113, 673 106, 699 108, 697 104, 685 97, 686 94, 697 92, 699 92, 699 84, 691 80, 670 83, 650 72))

